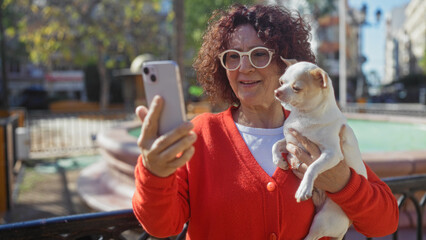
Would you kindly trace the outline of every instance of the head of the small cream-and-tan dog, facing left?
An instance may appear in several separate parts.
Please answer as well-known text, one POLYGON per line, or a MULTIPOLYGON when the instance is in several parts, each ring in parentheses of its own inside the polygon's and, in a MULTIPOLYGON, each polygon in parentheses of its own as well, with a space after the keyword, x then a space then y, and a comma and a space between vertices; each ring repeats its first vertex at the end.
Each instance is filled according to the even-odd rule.
POLYGON ((275 97, 291 110, 307 112, 319 107, 334 93, 328 74, 309 62, 295 62, 283 59, 287 70, 280 77, 281 86, 275 90, 275 97))

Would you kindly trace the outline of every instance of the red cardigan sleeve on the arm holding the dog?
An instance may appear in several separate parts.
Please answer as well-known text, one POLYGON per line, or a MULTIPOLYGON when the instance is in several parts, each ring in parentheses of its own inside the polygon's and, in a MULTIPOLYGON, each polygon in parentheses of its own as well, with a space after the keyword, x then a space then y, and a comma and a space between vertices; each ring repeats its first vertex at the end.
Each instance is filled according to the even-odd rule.
POLYGON ((351 169, 351 179, 338 193, 327 193, 366 237, 392 234, 398 228, 398 203, 390 188, 366 165, 368 180, 351 169))

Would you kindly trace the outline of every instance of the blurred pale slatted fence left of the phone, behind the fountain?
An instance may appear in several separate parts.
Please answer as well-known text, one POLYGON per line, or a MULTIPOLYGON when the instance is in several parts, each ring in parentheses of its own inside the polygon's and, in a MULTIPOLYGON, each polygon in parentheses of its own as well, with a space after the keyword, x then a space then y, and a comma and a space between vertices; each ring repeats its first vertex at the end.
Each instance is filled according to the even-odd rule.
POLYGON ((82 113, 30 112, 30 158, 46 158, 96 151, 96 135, 134 118, 129 111, 82 113))

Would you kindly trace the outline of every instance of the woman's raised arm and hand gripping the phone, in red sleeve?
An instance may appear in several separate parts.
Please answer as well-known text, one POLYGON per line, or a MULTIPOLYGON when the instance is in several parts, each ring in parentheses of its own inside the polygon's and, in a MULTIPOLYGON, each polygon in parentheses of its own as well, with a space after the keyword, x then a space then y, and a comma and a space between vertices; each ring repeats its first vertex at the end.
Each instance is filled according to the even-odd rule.
POLYGON ((145 230, 153 236, 169 237, 182 231, 189 216, 184 166, 194 154, 193 124, 184 123, 158 136, 163 100, 155 97, 149 111, 138 107, 142 121, 138 146, 141 156, 135 168, 133 210, 145 230), (178 170, 179 169, 179 170, 178 170))

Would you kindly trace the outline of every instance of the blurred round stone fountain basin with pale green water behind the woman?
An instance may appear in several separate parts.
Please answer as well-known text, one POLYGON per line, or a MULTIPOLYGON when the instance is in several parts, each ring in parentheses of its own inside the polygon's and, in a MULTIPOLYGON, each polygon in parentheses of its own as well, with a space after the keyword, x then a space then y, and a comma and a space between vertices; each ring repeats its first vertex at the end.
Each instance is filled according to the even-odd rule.
MULTIPOLYGON (((379 177, 426 173, 426 119, 346 115, 357 135, 363 160, 379 177), (375 143, 380 144, 372 146, 375 143)), ((98 135, 102 159, 83 169, 78 180, 80 196, 93 209, 110 211, 132 207, 134 167, 140 154, 139 133, 139 122, 127 122, 98 135)), ((400 226, 412 226, 416 221, 411 215, 401 215, 400 226)))

